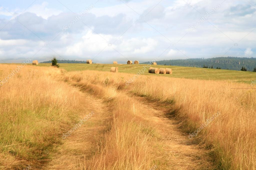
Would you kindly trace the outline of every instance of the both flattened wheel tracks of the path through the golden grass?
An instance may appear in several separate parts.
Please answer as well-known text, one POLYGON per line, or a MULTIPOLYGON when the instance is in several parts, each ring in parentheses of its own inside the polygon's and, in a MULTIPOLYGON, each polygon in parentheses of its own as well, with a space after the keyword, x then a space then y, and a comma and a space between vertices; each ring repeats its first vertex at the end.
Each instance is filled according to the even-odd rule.
MULTIPOLYGON (((156 155, 161 155, 161 163, 164 165, 155 166, 155 169, 216 169, 208 156, 209 151, 193 144, 188 135, 181 132, 171 105, 148 101, 144 97, 123 90, 118 93, 123 93, 140 103, 138 107, 145 110, 146 114, 139 116, 154 127, 159 136, 156 155)), ((85 161, 89 160, 98 149, 98 138, 111 128, 108 124, 112 116, 109 107, 111 104, 88 92, 84 92, 84 95, 82 109, 85 113, 81 115, 81 119, 90 112, 94 112, 94 115, 67 137, 63 145, 56 146, 52 161, 42 169, 86 169, 85 161)))

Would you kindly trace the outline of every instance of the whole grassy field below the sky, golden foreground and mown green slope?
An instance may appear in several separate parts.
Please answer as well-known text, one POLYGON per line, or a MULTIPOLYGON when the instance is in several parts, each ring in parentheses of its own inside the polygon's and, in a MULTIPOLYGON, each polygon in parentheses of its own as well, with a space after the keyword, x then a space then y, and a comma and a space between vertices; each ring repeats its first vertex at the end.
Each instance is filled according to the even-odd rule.
POLYGON ((60 66, 0 64, 0 169, 256 169, 256 73, 60 66))

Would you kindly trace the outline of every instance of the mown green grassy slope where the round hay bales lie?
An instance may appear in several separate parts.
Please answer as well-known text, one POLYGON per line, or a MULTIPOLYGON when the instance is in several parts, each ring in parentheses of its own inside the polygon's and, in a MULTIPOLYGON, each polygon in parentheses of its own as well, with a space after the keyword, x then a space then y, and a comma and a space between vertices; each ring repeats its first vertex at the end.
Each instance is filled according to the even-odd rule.
MULTIPOLYGON (((39 64, 38 66, 50 66, 47 64, 39 64)), ((110 71, 111 67, 117 66, 121 73, 134 73, 143 69, 146 64, 128 65, 128 64, 60 64, 60 67, 67 71, 82 71, 82 70, 98 70, 98 71, 110 71)), ((255 72, 235 71, 235 70, 219 70, 219 69, 205 69, 205 68, 193 68, 193 67, 180 67, 180 66, 154 66, 157 68, 172 68, 172 75, 159 74, 157 76, 171 76, 187 79, 200 79, 200 80, 227 80, 234 82, 251 83, 256 79, 255 72)), ((146 75, 155 75, 148 73, 148 69, 145 70, 146 75)))

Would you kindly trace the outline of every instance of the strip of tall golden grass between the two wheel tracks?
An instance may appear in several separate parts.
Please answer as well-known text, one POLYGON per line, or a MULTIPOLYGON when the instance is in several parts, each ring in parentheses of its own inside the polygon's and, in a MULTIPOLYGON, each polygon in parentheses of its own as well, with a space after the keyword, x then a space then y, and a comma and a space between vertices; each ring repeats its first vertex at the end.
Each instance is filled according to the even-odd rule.
POLYGON ((155 165, 153 161, 159 155, 153 150, 154 133, 145 133, 151 127, 138 119, 137 114, 143 112, 137 108, 139 103, 118 91, 123 83, 116 86, 107 74, 91 71, 72 72, 63 80, 110 102, 108 109, 112 112, 108 131, 97 140, 97 151, 80 168, 150 169, 155 165))

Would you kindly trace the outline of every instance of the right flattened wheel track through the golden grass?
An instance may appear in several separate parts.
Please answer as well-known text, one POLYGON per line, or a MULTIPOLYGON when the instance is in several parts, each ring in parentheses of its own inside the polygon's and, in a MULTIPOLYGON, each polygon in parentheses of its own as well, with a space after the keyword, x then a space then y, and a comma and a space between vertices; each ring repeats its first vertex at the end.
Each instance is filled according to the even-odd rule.
POLYGON ((193 140, 181 132, 171 107, 144 97, 134 97, 148 110, 144 118, 151 121, 162 136, 160 142, 164 146, 163 158, 169 161, 168 169, 216 169, 208 156, 209 151, 193 144, 193 140))

